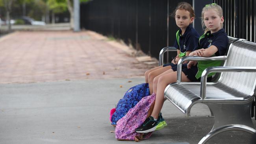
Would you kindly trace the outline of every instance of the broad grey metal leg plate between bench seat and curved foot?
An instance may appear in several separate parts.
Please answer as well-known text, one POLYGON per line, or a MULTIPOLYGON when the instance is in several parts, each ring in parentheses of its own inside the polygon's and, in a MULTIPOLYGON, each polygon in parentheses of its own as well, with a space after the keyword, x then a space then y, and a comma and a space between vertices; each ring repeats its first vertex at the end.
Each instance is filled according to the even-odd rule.
POLYGON ((244 104, 205 103, 214 114, 214 125, 211 131, 221 126, 240 124, 254 128, 251 118, 252 102, 244 104))

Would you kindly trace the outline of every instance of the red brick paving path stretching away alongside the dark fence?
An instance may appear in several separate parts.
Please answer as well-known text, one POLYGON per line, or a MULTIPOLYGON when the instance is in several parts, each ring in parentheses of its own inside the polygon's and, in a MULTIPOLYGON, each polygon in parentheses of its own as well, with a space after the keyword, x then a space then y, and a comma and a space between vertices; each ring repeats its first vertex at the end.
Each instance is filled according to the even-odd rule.
POLYGON ((0 83, 131 78, 154 66, 89 31, 20 31, 0 38, 0 83))

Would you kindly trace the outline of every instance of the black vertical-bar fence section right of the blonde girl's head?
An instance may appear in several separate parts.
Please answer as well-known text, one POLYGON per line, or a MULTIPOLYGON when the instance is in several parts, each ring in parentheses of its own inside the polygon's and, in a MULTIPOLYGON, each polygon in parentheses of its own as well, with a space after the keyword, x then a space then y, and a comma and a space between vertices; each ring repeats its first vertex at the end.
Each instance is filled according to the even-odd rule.
POLYGON ((224 28, 232 37, 256 42, 255 0, 214 0, 223 7, 224 28))

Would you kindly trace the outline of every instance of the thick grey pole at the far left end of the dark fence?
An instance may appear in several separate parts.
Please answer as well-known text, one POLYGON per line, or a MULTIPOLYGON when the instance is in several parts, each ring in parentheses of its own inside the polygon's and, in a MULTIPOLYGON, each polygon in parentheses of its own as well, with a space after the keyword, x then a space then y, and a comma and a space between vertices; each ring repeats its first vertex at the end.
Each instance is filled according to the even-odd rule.
POLYGON ((80 2, 74 0, 74 31, 80 31, 80 2))

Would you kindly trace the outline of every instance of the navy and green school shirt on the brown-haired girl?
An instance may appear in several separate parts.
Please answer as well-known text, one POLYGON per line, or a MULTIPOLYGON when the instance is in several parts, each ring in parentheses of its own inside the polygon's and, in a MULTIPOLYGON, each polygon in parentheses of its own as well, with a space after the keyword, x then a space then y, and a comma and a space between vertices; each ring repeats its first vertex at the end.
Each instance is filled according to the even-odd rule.
POLYGON ((183 35, 181 33, 181 29, 177 31, 174 47, 180 50, 179 57, 184 57, 186 55, 186 51, 194 50, 200 35, 193 28, 192 24, 189 24, 189 26, 187 26, 183 35))

